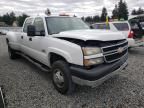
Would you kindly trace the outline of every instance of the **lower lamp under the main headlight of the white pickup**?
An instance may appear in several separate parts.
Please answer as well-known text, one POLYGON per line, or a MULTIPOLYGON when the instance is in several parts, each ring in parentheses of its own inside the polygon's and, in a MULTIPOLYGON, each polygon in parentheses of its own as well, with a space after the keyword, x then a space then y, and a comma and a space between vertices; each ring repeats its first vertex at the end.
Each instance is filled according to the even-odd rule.
POLYGON ((85 66, 98 65, 98 64, 102 64, 103 62, 104 62, 103 57, 94 58, 94 59, 84 59, 85 66))

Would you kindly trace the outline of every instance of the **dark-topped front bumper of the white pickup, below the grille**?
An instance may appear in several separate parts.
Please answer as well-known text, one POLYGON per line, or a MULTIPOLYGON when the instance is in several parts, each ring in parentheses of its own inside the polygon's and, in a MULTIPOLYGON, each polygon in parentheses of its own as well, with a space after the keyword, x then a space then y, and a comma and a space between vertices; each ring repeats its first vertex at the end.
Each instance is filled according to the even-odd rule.
POLYGON ((103 64, 91 70, 86 70, 79 67, 70 67, 73 82, 80 85, 96 86, 101 84, 106 79, 117 74, 119 71, 127 66, 126 54, 119 61, 111 64, 103 64))

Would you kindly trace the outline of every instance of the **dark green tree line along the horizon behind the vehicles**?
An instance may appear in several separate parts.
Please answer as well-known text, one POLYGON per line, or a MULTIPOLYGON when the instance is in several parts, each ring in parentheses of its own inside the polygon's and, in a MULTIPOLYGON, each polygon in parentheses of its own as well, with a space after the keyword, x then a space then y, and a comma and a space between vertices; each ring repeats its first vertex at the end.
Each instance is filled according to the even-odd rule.
MULTIPOLYGON (((51 12, 49 9, 45 11, 45 14, 50 15, 51 12)), ((138 10, 134 9, 132 10, 132 15, 139 15, 144 14, 144 10, 142 8, 139 8, 138 10)), ((106 17, 108 16, 108 19, 128 19, 128 6, 127 3, 123 0, 120 0, 118 4, 115 5, 115 8, 112 11, 112 16, 108 16, 107 9, 103 7, 101 15, 95 15, 95 16, 87 16, 82 17, 81 19, 88 23, 94 23, 94 22, 105 22, 106 17)), ((25 19, 28 17, 27 14, 22 14, 19 16, 16 16, 14 12, 6 13, 3 16, 0 16, 0 22, 5 22, 6 25, 12 26, 13 22, 16 22, 18 26, 22 26, 25 19)))

